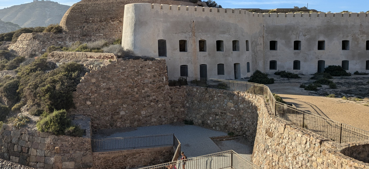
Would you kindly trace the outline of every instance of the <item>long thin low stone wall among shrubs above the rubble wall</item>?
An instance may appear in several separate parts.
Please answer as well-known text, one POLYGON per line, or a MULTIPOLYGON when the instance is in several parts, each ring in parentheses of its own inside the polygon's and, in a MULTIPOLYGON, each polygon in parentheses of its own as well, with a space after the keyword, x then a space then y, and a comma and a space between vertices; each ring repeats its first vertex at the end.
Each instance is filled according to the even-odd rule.
POLYGON ((117 57, 111 53, 93 53, 93 52, 51 52, 48 54, 48 59, 102 59, 113 60, 117 57))

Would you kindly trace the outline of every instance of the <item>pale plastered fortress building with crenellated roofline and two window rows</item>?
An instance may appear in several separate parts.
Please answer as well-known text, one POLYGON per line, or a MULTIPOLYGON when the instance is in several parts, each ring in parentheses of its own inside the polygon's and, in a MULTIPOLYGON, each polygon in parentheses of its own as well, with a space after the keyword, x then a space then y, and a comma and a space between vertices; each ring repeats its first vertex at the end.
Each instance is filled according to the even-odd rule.
POLYGON ((127 4, 122 46, 166 59, 168 76, 241 79, 255 70, 369 70, 369 13, 251 13, 127 4))

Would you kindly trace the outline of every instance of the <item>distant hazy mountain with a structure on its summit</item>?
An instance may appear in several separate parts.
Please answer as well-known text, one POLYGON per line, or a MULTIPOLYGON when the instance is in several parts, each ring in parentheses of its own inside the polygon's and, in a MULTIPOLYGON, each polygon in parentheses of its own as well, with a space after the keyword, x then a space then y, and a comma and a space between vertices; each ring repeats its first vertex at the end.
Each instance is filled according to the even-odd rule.
POLYGON ((0 10, 0 19, 20 25, 38 27, 59 24, 70 6, 53 1, 34 1, 0 10))

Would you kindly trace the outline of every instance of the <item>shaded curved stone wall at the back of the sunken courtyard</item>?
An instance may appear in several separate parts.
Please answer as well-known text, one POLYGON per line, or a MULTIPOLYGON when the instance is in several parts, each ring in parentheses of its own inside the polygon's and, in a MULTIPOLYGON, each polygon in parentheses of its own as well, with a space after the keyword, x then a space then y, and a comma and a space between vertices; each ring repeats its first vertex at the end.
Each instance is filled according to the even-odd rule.
POLYGON ((186 87, 187 119, 196 125, 244 135, 253 144, 260 96, 245 92, 186 87))

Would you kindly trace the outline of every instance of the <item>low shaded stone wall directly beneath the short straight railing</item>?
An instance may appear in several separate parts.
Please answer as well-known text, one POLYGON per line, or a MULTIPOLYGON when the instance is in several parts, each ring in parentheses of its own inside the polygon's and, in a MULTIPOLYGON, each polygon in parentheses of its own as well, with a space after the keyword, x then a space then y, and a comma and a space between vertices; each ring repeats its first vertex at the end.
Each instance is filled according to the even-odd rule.
POLYGON ((173 146, 94 152, 93 169, 121 169, 157 165, 170 162, 173 155, 173 146))

